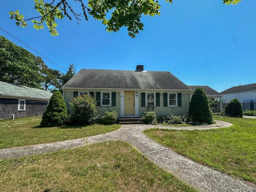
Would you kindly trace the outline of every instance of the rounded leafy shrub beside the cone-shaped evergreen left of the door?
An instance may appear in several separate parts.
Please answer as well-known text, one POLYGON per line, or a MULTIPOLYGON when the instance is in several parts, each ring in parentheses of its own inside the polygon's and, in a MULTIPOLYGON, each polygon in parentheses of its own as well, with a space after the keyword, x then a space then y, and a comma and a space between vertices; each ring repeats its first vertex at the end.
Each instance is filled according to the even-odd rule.
POLYGON ((74 112, 70 117, 72 124, 93 124, 98 118, 96 99, 90 95, 76 96, 69 104, 74 112))

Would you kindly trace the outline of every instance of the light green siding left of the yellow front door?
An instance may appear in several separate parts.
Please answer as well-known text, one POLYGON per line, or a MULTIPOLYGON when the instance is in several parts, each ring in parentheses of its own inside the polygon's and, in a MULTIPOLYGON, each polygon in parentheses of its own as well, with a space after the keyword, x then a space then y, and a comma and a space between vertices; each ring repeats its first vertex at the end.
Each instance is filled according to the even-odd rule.
MULTIPOLYGON (((70 110, 69 102, 73 98, 73 92, 74 92, 73 90, 64 92, 64 100, 66 102, 66 106, 67 106, 68 111, 70 113, 72 113, 72 110, 70 110)), ((94 95, 96 95, 96 90, 95 91, 90 90, 90 92, 94 92, 94 95)), ((97 90, 97 92, 98 92, 98 90, 97 90)), ((110 109, 115 110, 118 113, 118 117, 120 117, 120 92, 116 92, 116 106, 114 106, 114 107, 112 107, 112 106, 99 106, 98 108, 99 108, 99 110, 98 110, 99 118, 104 116, 105 111, 109 111, 110 109)))

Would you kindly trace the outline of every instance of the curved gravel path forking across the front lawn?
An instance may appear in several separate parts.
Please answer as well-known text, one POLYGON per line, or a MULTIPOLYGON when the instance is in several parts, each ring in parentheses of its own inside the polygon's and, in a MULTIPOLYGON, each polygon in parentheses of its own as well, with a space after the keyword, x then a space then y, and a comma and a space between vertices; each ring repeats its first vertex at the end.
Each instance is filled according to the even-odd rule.
POLYGON ((106 134, 91 136, 88 138, 80 138, 67 140, 62 142, 54 142, 48 144, 38 144, 32 146, 14 147, 0 149, 0 159, 16 158, 31 154, 40 154, 75 148, 98 142, 121 140, 132 144, 138 151, 143 153, 152 162, 171 172, 185 182, 186 184, 196 188, 202 192, 256 192, 256 186, 252 183, 239 180, 233 176, 212 170, 208 166, 204 166, 194 162, 173 150, 162 146, 158 142, 152 140, 145 134, 144 130, 149 128, 170 128, 176 130, 195 130, 195 129, 212 129, 229 127, 231 123, 217 121, 216 124, 207 126, 193 127, 170 127, 156 125, 122 125, 116 131, 106 134))

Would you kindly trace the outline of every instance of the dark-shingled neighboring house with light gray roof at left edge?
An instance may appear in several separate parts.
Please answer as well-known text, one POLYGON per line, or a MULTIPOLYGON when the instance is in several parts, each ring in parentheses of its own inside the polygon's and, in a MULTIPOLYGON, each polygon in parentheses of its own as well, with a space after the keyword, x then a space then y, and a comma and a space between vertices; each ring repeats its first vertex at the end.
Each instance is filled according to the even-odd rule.
POLYGON ((0 81, 0 120, 42 115, 51 92, 0 81))

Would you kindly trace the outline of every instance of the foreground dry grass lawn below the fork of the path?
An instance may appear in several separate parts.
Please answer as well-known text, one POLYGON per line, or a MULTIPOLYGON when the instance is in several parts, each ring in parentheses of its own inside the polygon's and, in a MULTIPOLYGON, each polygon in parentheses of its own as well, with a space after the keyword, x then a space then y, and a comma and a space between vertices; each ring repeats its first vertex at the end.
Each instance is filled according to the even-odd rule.
POLYGON ((0 167, 1 192, 196 192, 124 142, 5 159, 0 167))

